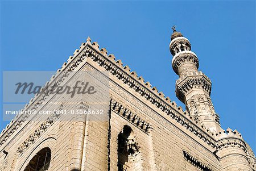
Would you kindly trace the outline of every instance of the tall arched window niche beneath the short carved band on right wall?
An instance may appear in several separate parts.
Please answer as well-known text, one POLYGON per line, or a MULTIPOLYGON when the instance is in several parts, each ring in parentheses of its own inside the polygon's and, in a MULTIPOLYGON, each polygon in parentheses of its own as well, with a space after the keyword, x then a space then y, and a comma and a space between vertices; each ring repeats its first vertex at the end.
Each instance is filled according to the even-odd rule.
POLYGON ((124 126, 118 135, 118 171, 141 170, 141 153, 131 127, 124 126))

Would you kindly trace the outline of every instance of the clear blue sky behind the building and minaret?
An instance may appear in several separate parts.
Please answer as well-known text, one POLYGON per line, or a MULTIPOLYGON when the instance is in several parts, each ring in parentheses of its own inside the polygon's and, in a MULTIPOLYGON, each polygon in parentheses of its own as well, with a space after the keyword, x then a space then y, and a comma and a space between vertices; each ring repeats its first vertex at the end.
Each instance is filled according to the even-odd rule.
POLYGON ((1 70, 57 70, 90 36, 184 109, 173 25, 212 80, 222 128, 237 129, 255 152, 254 1, 1 1, 1 70))

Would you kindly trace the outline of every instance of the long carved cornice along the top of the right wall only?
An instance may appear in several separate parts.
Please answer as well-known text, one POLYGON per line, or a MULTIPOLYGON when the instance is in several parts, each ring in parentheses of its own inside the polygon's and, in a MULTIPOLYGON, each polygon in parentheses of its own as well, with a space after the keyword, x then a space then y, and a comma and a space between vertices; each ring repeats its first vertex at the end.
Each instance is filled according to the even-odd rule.
MULTIPOLYGON (((155 87, 152 88, 152 90, 155 92, 154 94, 148 91, 147 89, 144 89, 143 86, 139 84, 139 82, 135 82, 134 79, 132 79, 129 75, 122 72, 122 70, 118 69, 117 67, 113 66, 110 62, 106 61, 104 58, 102 58, 100 55, 97 55, 96 52, 93 52, 92 49, 89 49, 89 57, 91 57, 94 61, 96 61, 100 66, 103 66, 106 70, 109 70, 110 73, 112 73, 115 77, 117 77, 119 80, 123 81, 124 84, 129 85, 132 89, 137 91, 139 94, 141 94, 142 97, 146 98, 148 101, 150 101, 153 105, 164 111, 167 115, 170 115, 172 119, 175 119, 176 122, 180 123, 181 126, 185 127, 187 130, 195 134, 196 136, 200 137, 201 140, 205 141, 208 145, 211 147, 216 147, 215 141, 212 139, 213 134, 204 126, 201 126, 198 122, 194 121, 194 124, 189 122, 188 120, 193 121, 191 116, 188 116, 184 113, 184 115, 180 115, 179 112, 174 110, 174 107, 167 106, 166 103, 163 103, 161 98, 158 98, 154 94, 158 92, 155 87), (197 126, 195 126, 197 125, 197 126), (203 133, 203 131, 200 131, 200 129, 204 129, 205 132, 208 132, 208 134, 203 133), (212 136, 212 137, 211 137, 212 136)), ((111 56, 113 57, 113 56, 111 56)), ((114 58, 112 58, 114 60, 114 58)), ((122 63, 120 60, 117 60, 118 66, 122 67, 122 63)), ((127 70, 126 70, 127 72, 127 70)), ((130 73, 131 76, 138 79, 138 81, 141 81, 141 77, 138 77, 135 72, 130 73)), ((142 82, 143 84, 144 82, 142 82)), ((147 85, 147 82, 146 82, 147 85)), ((150 86, 151 87, 151 86, 150 86)), ((159 93, 159 96, 162 92, 159 93)), ((163 98, 163 97, 162 97, 163 98)), ((178 109, 179 110, 179 109, 178 109)), ((183 112, 183 111, 180 111, 183 112)))

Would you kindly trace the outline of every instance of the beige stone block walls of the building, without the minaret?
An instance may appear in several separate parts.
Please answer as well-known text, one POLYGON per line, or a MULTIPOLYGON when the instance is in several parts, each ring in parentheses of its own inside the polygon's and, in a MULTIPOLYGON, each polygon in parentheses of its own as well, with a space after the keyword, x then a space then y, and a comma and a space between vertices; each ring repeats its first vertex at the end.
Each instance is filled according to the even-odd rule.
MULTIPOLYGON (((26 109, 84 110, 100 107, 105 115, 71 117, 54 114, 49 119, 40 119, 42 116, 37 115, 34 121, 28 121, 30 116, 15 119, 0 137, 1 171, 24 170, 32 157, 44 147, 51 149, 48 170, 118 170, 118 161, 125 155, 129 161, 124 165, 127 170, 223 170, 224 165, 230 170, 237 169, 236 163, 241 158, 236 160, 233 154, 231 158, 223 156, 225 151, 221 153, 218 148, 217 135, 196 123, 175 102, 165 98, 162 92, 158 93, 155 87, 151 90, 150 83, 144 83, 135 72, 130 73, 129 67, 123 67, 120 60, 112 64, 114 56, 110 55, 107 59, 105 49, 97 49, 98 45, 90 44, 90 40, 82 44, 81 51, 76 50, 74 57, 69 57, 56 77, 75 68, 110 68, 107 103, 94 106, 88 103, 89 97, 52 95, 36 97, 26 109), (87 45, 89 48, 86 48, 87 45), (96 61, 100 57, 101 60, 96 61), (113 72, 113 68, 118 70, 113 72), (128 152, 124 148, 121 152, 118 140, 126 126, 133 133, 125 137, 128 152), (234 165, 229 165, 230 160, 234 165)), ((60 84, 73 86, 76 79, 73 76, 68 81, 68 76, 63 76, 64 81, 60 79, 60 84)), ((105 94, 98 94, 90 98, 101 102, 104 97, 105 94)), ((244 144, 242 139, 241 144, 244 144)), ((245 156, 245 150, 240 153, 245 156)), ((242 164, 250 170, 246 157, 243 157, 242 164)))

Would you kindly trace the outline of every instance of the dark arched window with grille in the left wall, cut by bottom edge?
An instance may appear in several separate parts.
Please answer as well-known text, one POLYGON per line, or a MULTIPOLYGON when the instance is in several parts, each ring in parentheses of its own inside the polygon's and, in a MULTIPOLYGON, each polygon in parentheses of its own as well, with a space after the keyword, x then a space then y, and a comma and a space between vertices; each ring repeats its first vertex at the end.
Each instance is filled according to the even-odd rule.
POLYGON ((41 149, 30 160, 24 171, 46 171, 51 161, 51 149, 48 147, 41 149))

